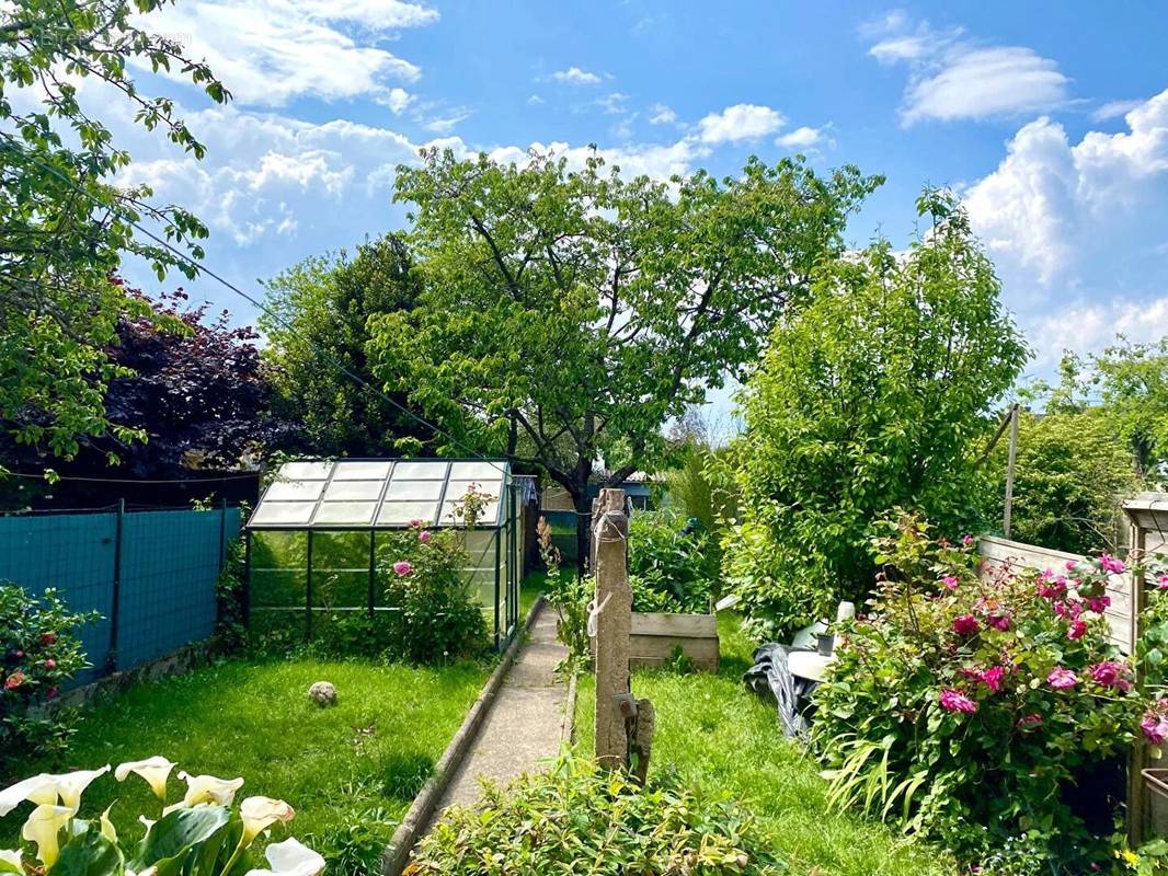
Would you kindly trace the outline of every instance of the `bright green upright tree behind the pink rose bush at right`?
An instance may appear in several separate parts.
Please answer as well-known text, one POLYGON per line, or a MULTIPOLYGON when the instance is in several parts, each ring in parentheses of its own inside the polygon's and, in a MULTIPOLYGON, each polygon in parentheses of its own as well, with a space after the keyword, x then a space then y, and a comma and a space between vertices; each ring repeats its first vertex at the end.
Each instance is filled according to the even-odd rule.
POLYGON ((871 521, 902 506, 952 531, 985 495, 971 449, 1027 350, 964 211, 936 192, 918 208, 906 253, 882 242, 822 266, 741 396, 724 568, 772 633, 871 585, 871 521))

